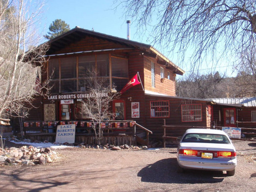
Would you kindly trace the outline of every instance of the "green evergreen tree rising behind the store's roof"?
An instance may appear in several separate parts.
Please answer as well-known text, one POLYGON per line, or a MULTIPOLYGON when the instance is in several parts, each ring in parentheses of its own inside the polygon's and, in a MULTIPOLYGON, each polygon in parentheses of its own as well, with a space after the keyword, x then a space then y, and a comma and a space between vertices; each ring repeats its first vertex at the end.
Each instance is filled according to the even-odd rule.
POLYGON ((68 24, 61 19, 55 19, 54 22, 49 27, 49 31, 47 35, 44 35, 45 38, 51 40, 62 33, 65 33, 70 30, 68 24))

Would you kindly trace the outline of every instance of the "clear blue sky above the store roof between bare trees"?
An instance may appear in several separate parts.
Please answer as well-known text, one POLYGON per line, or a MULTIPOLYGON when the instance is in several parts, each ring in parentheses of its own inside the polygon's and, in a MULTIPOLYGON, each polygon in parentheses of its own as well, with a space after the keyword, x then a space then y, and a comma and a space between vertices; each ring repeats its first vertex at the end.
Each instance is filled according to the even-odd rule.
MULTIPOLYGON (((49 31, 50 24, 55 19, 61 19, 69 24, 71 29, 79 26, 84 29, 94 29, 96 32, 126 38, 126 20, 131 20, 131 40, 151 44, 150 40, 146 40, 149 36, 148 32, 138 34, 138 26, 133 18, 125 17, 121 7, 118 9, 115 9, 115 7, 116 5, 113 4, 112 0, 48 0, 44 6, 43 19, 40 20, 39 32, 46 34, 49 31)), ((168 50, 163 50, 158 45, 154 45, 154 47, 180 68, 189 71, 187 66, 180 65, 175 54, 168 54, 168 50)), ((208 70, 202 70, 202 73, 209 71, 209 66, 203 68, 208 68, 208 70)), ((225 68, 216 68, 216 70, 224 72, 225 68)))

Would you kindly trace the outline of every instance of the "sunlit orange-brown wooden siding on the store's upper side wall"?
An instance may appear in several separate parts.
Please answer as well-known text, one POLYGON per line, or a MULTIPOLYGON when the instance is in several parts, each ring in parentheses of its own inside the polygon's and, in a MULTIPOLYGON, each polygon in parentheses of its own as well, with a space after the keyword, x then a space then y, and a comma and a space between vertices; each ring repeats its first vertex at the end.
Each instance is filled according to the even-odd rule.
POLYGON ((145 90, 161 93, 168 96, 175 96, 175 77, 172 71, 167 70, 163 65, 159 65, 156 59, 144 58, 145 90), (155 88, 152 87, 151 62, 155 63, 155 88), (161 81, 160 67, 164 68, 164 80, 161 81), (170 79, 167 79, 167 72, 170 72, 170 79))

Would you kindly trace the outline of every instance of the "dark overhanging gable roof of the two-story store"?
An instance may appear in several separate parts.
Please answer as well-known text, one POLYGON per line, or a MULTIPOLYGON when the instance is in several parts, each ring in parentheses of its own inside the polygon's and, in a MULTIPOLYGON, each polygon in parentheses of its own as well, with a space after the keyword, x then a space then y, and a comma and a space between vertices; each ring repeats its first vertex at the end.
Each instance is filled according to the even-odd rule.
MULTIPOLYGON (((73 42, 79 41, 80 39, 84 38, 85 36, 92 36, 108 41, 115 42, 117 44, 121 44, 124 46, 127 46, 127 49, 139 49, 143 52, 146 52, 147 54, 154 55, 157 59, 161 61, 164 65, 166 65, 166 68, 173 70, 175 73, 179 75, 183 75, 185 72, 180 69, 178 66, 176 66, 172 61, 170 61, 167 57, 165 57, 163 54, 161 54, 158 50, 156 50, 154 47, 151 45, 143 44, 141 42, 125 39, 125 38, 120 38, 112 35, 106 35, 103 33, 98 33, 95 31, 87 30, 87 29, 82 29, 80 27, 75 27, 71 29, 70 31, 63 33, 51 40, 49 40, 47 43, 50 44, 50 48, 47 51, 46 56, 54 55, 54 52, 64 48, 68 45, 70 45, 73 42)), ((106 50, 92 50, 94 52, 96 51, 106 51, 106 50)), ((108 50, 108 51, 111 51, 108 50)), ((81 53, 81 52, 79 52, 81 53)), ((75 54, 75 53, 67 53, 67 54, 75 54)))

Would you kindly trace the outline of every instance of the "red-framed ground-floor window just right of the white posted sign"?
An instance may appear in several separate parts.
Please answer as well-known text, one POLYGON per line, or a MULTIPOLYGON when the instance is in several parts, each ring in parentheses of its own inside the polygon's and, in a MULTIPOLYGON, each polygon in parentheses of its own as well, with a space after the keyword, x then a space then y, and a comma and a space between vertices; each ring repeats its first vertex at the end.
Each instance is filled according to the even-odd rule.
POLYGON ((169 117, 169 101, 151 101, 150 117, 169 117))

